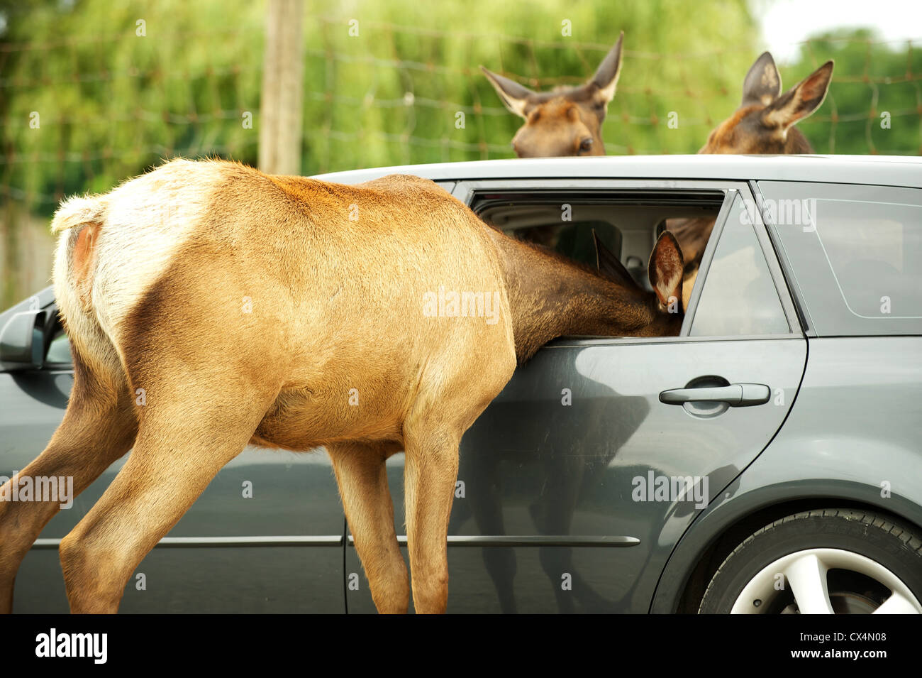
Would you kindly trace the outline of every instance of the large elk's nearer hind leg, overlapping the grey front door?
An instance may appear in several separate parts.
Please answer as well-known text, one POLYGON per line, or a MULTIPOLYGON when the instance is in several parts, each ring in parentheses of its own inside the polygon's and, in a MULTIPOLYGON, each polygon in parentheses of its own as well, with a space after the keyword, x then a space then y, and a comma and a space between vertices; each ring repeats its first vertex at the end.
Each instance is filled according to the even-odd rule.
POLYGON ((274 396, 208 380, 152 385, 135 449, 112 485, 62 541, 72 613, 115 613, 144 556, 246 446, 274 396), (203 394, 220 393, 220 398, 203 394))

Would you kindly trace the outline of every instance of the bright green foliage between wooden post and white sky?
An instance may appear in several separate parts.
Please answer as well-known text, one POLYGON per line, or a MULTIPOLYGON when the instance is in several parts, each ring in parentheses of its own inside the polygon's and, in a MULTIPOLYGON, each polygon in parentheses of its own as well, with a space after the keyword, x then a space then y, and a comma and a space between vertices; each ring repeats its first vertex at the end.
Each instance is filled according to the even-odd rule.
POLYGON ((313 125, 305 132, 306 164, 324 170, 512 157, 522 121, 478 66, 532 89, 581 84, 620 30, 624 66, 603 128, 607 151, 694 152, 710 112, 734 107, 756 35, 741 0, 360 3, 320 16, 307 37, 313 125), (358 36, 349 35, 352 18, 358 36), (731 49, 723 36, 734 37, 731 49), (678 128, 668 128, 670 112, 678 128))

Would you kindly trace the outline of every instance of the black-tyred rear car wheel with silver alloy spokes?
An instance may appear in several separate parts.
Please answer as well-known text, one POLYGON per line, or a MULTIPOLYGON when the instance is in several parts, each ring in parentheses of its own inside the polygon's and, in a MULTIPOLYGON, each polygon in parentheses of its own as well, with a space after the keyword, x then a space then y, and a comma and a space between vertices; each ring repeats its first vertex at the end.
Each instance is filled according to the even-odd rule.
POLYGON ((776 520, 727 556, 699 613, 922 614, 917 530, 853 509, 776 520))

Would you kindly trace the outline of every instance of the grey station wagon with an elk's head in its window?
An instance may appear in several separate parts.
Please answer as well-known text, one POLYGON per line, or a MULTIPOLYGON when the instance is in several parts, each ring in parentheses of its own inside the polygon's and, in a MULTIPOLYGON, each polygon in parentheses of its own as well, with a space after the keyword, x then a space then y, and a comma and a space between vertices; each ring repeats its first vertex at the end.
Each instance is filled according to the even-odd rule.
MULTIPOLYGON (((449 612, 922 613, 922 161, 601 157, 318 178, 394 172, 588 266, 597 238, 648 289, 669 220, 714 223, 680 336, 557 339, 467 432, 449 612)), ((51 289, 0 315, 0 475, 41 452, 72 384, 51 289)), ((14 612, 66 612, 58 542, 123 463, 62 497, 14 612)), ((400 535, 403 456, 387 468, 400 535)), ((247 448, 138 566, 121 610, 373 612, 325 452, 247 448)))

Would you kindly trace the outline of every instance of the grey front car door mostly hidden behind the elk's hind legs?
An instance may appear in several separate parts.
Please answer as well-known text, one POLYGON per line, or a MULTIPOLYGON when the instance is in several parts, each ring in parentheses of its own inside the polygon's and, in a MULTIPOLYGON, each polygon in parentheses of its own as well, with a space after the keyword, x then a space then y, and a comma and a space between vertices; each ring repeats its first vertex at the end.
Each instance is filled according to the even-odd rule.
MULTIPOLYGON (((47 309, 56 315, 53 303, 47 309)), ((48 444, 73 383, 60 331, 41 370, 0 374, 0 475, 24 469, 48 444)), ((42 530, 19 568, 15 613, 67 612, 58 543, 126 459, 42 530)), ((120 612, 343 613, 344 526, 325 451, 248 447, 137 566, 120 612)))

